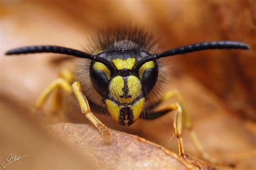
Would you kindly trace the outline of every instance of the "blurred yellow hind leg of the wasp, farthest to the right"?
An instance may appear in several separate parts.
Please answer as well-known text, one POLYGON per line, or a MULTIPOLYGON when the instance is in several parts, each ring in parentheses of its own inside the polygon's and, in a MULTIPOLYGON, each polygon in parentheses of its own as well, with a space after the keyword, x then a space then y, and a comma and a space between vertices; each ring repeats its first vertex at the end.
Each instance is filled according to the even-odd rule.
POLYGON ((199 152, 201 157, 203 159, 205 159, 206 161, 211 162, 212 164, 234 166, 230 162, 216 160, 216 159, 210 157, 210 155, 208 155, 207 152, 204 151, 203 146, 201 145, 201 143, 199 142, 199 140, 197 138, 196 132, 194 132, 194 130, 193 130, 193 124, 192 124, 190 115, 187 112, 183 96, 179 93, 179 91, 172 90, 172 91, 167 92, 163 98, 163 101, 170 100, 173 97, 177 97, 177 99, 180 103, 180 106, 182 108, 184 118, 185 118, 185 126, 186 126, 188 132, 190 133, 190 138, 191 138, 194 146, 197 148, 197 151, 199 152))

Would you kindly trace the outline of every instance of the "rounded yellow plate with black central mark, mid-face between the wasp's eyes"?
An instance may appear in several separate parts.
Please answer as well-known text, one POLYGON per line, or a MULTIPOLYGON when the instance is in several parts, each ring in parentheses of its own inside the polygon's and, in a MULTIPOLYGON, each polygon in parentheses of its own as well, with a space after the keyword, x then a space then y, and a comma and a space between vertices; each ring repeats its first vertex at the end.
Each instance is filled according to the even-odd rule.
POLYGON ((142 94, 142 85, 136 76, 129 76, 126 82, 122 77, 114 77, 109 85, 110 95, 119 103, 132 103, 132 101, 142 94), (127 93, 126 97, 124 93, 127 93))

